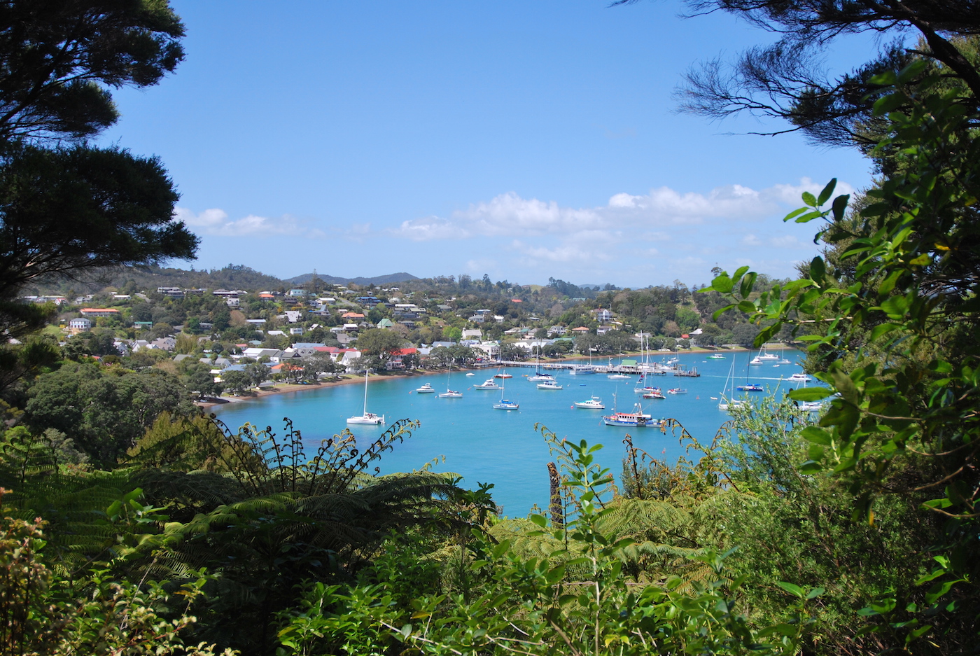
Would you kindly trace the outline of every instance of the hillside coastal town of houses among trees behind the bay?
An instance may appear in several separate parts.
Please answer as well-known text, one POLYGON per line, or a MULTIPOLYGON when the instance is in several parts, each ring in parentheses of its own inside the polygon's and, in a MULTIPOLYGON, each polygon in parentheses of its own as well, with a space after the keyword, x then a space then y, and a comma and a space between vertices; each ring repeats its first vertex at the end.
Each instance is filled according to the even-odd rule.
POLYGON ((129 280, 22 300, 52 308, 44 338, 66 352, 107 367, 176 374, 201 401, 366 370, 576 357, 602 367, 621 353, 749 345, 758 331, 712 323, 716 299, 679 282, 600 290, 554 278, 549 285, 467 277, 362 285, 313 276, 289 286, 228 289, 139 288, 129 280))

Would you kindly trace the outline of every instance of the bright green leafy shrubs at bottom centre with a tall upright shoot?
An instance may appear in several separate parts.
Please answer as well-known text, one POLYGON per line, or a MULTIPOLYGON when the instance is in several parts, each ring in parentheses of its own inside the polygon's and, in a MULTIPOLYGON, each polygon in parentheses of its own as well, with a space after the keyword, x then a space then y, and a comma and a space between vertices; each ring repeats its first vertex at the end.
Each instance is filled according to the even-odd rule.
POLYGON ((612 479, 595 464, 599 448, 554 442, 569 465, 576 517, 548 530, 541 557, 522 557, 510 539, 474 530, 467 567, 482 581, 477 594, 418 594, 406 608, 391 586, 315 584, 282 619, 281 654, 795 654, 809 628, 809 606, 821 590, 783 583, 789 623, 754 631, 736 609, 739 580, 727 580, 727 555, 697 556, 711 578, 681 592, 681 580, 643 584, 624 576, 621 553, 632 540, 600 528, 610 512, 600 490, 612 479))

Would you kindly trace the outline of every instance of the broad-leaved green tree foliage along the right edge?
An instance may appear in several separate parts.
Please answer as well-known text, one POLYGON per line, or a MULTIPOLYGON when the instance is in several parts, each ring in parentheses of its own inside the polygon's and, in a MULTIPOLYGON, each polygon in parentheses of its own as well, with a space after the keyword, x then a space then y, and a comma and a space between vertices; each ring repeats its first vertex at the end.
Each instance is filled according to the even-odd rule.
MULTIPOLYGON (((912 65, 874 80, 892 87, 874 111, 889 122, 876 152, 889 158, 894 173, 868 192, 872 202, 849 216, 847 196, 831 201, 832 180, 787 217, 825 221, 817 236, 847 244, 838 255, 841 266, 814 258, 807 278, 775 285, 754 300, 747 268, 718 276, 712 287, 729 296, 729 307, 771 323, 757 342, 783 324, 807 328, 802 338, 826 368, 817 376, 836 395, 819 427, 804 433, 809 449, 801 471, 846 481, 855 519, 868 524, 880 516, 886 492, 925 501, 932 519, 943 521, 932 532, 935 565, 919 579, 930 586, 922 603, 906 598, 906 604, 868 606, 866 616, 886 620, 869 630, 955 645, 975 643, 970 625, 980 610, 977 564, 967 556, 980 536, 980 489, 969 473, 980 448, 980 146, 975 117, 957 101, 959 92, 937 87, 937 78, 919 79, 921 69, 912 65), (896 111, 899 105, 907 110, 896 111), (931 498, 921 499, 923 492, 931 498)), ((927 565, 925 558, 920 563, 927 565)), ((881 590, 883 598, 894 600, 896 593, 881 590)))

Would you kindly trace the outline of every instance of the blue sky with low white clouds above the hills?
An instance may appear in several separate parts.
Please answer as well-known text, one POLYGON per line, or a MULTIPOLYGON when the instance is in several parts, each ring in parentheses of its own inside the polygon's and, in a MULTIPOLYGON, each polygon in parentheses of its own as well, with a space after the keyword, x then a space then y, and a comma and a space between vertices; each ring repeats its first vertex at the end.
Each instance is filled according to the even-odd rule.
MULTIPOLYGON (((679 2, 172 4, 186 60, 118 92, 103 141, 163 159, 202 237, 197 268, 783 277, 814 253, 813 227, 780 221, 800 193, 870 179, 856 151, 745 133, 777 124, 678 115, 690 66, 771 38, 682 20, 679 2)), ((846 43, 828 67, 869 56, 846 43)))

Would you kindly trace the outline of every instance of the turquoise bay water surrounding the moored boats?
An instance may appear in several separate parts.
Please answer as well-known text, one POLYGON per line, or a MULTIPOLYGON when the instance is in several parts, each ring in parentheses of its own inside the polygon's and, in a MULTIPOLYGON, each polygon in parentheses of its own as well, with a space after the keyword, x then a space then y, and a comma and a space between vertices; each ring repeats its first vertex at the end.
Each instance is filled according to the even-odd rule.
MULTIPOLYGON (((655 418, 676 419, 699 440, 710 442, 728 418, 727 413, 717 409, 717 401, 711 397, 717 397, 724 387, 732 358, 735 359, 736 383, 748 380, 759 382, 769 390, 785 391, 798 383, 780 381, 779 378, 802 371, 795 364, 801 354, 790 350, 782 353, 794 364, 753 366, 748 378, 752 353, 725 353, 724 360, 706 360, 703 353, 681 354, 681 365, 687 369, 696 367, 701 377, 651 378, 651 384, 662 387, 664 393, 671 387, 685 387, 688 393, 665 394, 664 400, 646 400, 643 409, 655 418)), ((661 357, 656 359, 661 360, 661 357)), ((454 372, 450 386, 464 393, 460 399, 438 397, 438 392, 446 389, 445 375, 372 380, 368 386, 368 411, 385 415, 389 426, 399 419, 421 422, 421 427, 410 439, 396 444, 394 451, 384 454, 379 464, 381 473, 412 471, 438 458, 433 470, 455 472, 464 477, 463 484, 467 487, 476 487, 477 481, 495 483, 496 502, 504 506, 505 514, 518 517, 525 515, 533 504, 545 508, 548 502, 546 466, 554 457, 549 454, 540 432, 535 431, 535 423, 553 430, 560 437, 604 444, 606 448, 598 454, 598 461, 616 476, 621 470, 622 438, 627 432, 633 436, 636 446, 657 458, 674 462, 683 453, 677 437, 669 431, 663 434, 660 429, 626 429, 602 423, 602 415, 613 412, 613 392, 616 392, 620 411, 630 411, 633 403, 640 399, 640 395, 633 392, 636 376, 630 380, 610 380, 605 374, 570 376, 556 373, 558 383, 564 389, 542 390, 526 378, 533 375, 533 369, 516 368, 509 373, 514 378, 506 380, 504 396, 520 404, 520 409, 515 411, 493 408, 500 399, 500 390, 472 389, 472 385, 492 376, 494 370, 478 371, 468 378, 466 372, 454 372), (416 394, 413 390, 423 382, 431 383, 437 393, 416 394), (602 397, 606 410, 571 409, 573 401, 586 400, 592 395, 602 397)), ((360 415, 363 406, 364 385, 349 384, 270 395, 256 401, 221 406, 215 412, 233 429, 251 422, 282 432, 282 418, 288 417, 302 431, 307 452, 312 454, 321 439, 345 428, 368 439, 379 435, 385 427, 347 427, 346 419, 360 415)))

